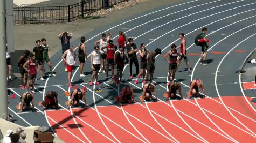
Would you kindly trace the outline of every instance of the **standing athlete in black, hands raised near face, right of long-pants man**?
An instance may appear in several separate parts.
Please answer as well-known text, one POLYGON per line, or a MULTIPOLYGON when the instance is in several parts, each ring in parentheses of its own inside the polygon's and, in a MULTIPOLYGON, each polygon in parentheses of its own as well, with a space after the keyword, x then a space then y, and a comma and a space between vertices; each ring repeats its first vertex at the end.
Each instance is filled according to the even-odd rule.
POLYGON ((148 49, 146 49, 146 44, 145 43, 141 43, 141 50, 139 50, 139 54, 141 56, 141 71, 138 74, 134 84, 136 85, 138 83, 138 79, 139 77, 141 77, 142 75, 142 82, 146 83, 146 80, 144 80, 145 78, 145 74, 146 74, 146 70, 147 70, 147 54, 150 53, 150 51, 148 49))

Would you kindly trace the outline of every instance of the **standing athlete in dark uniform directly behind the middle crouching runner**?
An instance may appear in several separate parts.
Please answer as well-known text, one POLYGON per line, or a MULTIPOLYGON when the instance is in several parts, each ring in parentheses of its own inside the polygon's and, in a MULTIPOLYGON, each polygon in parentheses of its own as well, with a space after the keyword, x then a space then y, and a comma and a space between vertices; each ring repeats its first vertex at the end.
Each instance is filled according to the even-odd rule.
POLYGON ((119 51, 115 54, 115 62, 116 62, 116 86, 118 84, 122 84, 122 75, 123 75, 123 67, 124 67, 124 60, 127 59, 125 52, 123 51, 123 46, 120 45, 119 51))

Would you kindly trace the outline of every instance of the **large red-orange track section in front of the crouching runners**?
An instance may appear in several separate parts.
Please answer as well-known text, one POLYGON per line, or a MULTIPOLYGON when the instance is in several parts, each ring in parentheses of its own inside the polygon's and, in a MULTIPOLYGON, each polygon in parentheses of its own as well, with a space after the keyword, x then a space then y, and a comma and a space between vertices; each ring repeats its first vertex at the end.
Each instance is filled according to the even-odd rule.
MULTIPOLYGON (((120 106, 97 108, 102 121, 120 142, 202 142, 203 140, 208 142, 232 142, 230 137, 238 142, 256 142, 256 136, 253 134, 256 132, 256 114, 248 106, 244 97, 225 96, 222 99, 232 114, 251 132, 231 116, 220 104, 219 99, 215 99, 219 103, 207 98, 196 99, 197 102, 195 100, 171 101, 177 113, 170 101, 147 103, 147 106, 146 104, 126 105, 122 109, 120 106), (216 125, 203 114, 197 103, 216 125), (135 126, 137 131, 130 123, 135 126)), ((102 124, 95 108, 72 109, 73 114, 79 117, 75 117, 75 121, 77 121, 88 140, 78 130, 68 111, 47 111, 47 117, 51 118, 48 120, 52 128, 57 136, 65 142, 88 142, 88 140, 91 142, 118 142, 102 124), (74 136, 65 129, 72 132, 74 136)))

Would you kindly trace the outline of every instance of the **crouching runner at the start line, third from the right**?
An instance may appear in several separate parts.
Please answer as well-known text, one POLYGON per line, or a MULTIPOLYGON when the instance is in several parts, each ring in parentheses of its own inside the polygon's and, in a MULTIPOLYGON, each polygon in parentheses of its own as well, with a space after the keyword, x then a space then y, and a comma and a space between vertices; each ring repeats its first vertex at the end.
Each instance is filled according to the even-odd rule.
POLYGON ((142 101, 141 102, 151 101, 151 100, 157 101, 156 87, 153 83, 150 83, 150 84, 146 83, 146 84, 144 84, 144 86, 142 88, 142 101), (156 99, 152 98, 151 92, 153 92, 155 94, 156 99))

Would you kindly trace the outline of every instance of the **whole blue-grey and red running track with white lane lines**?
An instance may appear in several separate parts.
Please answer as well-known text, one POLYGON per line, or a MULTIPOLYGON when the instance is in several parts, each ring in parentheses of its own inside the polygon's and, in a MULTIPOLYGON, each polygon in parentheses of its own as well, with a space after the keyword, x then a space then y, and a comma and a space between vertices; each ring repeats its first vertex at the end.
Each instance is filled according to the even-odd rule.
MULTIPOLYGON (((117 21, 85 35, 88 54, 101 33, 112 31, 116 42, 120 30, 127 37, 133 37, 138 47, 144 42, 150 50, 161 48, 165 54, 171 44, 179 44, 177 35, 184 33, 192 72, 184 72, 186 65, 182 62, 176 80, 181 83, 185 96, 190 81, 202 79, 207 95, 205 99, 164 101, 169 65, 162 56, 158 56, 154 82, 160 101, 117 106, 114 96, 122 87, 116 87, 111 80, 102 80, 99 87, 105 88, 103 92, 96 93, 94 89, 99 87, 87 84, 91 78, 87 61, 84 69, 87 77, 79 78, 77 68, 72 81, 79 88, 87 87, 89 108, 66 109, 68 97, 62 93, 71 89, 66 84, 67 73, 59 59, 61 52, 58 52, 51 58, 58 77, 36 83, 37 112, 15 114, 15 122, 24 126, 51 126, 54 133, 66 142, 255 142, 255 109, 249 102, 251 97, 242 92, 243 88, 253 87, 241 83, 241 77, 234 73, 255 48, 255 10, 255 1, 181 1, 117 21), (209 66, 198 64, 200 48, 193 44, 202 27, 208 28, 207 37, 211 40, 207 56, 209 66), (42 112, 37 103, 49 90, 59 93, 61 109, 42 112)), ((78 43, 79 39, 73 45, 78 43)), ((134 85, 128 73, 129 67, 126 67, 124 84, 135 89, 135 99, 139 101, 142 80, 134 85)), ((99 79, 105 79, 105 74, 100 73, 99 79)), ((14 114, 17 112, 18 95, 24 91, 18 88, 11 90, 17 95, 9 100, 9 110, 14 114)))

